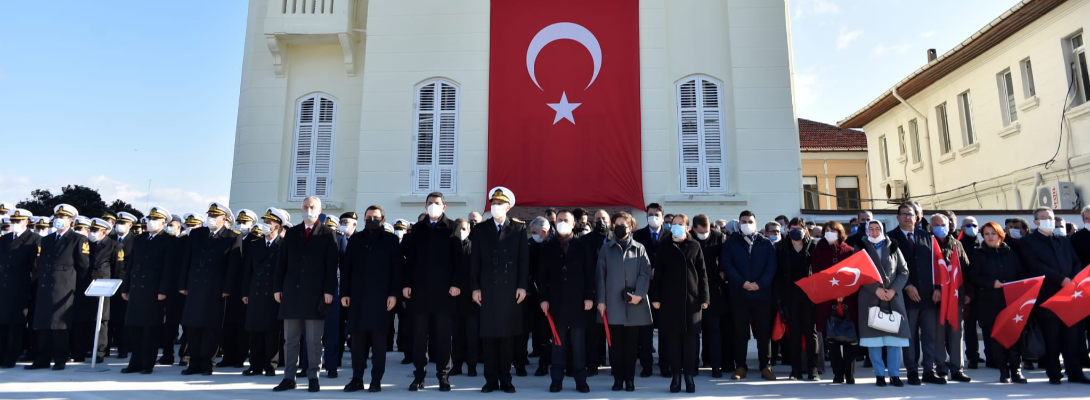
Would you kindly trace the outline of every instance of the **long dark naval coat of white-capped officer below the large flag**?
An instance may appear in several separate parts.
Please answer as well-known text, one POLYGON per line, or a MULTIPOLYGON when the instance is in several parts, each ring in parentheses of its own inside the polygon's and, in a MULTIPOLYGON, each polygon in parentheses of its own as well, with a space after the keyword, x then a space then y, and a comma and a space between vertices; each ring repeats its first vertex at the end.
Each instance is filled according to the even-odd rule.
POLYGON ((470 288, 481 291, 481 337, 504 338, 522 332, 522 307, 516 291, 530 281, 530 245, 526 225, 495 219, 473 229, 470 288))

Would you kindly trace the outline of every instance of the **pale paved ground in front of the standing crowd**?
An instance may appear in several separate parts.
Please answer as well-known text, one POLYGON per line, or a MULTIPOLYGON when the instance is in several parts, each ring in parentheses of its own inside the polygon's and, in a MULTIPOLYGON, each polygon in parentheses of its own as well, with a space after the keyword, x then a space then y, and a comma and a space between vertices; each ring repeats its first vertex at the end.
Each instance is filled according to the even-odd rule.
MULTIPOLYGON (((348 354, 346 354, 346 362, 348 354)), ((305 380, 300 381, 304 389, 272 392, 281 376, 277 377, 243 377, 242 369, 221 368, 215 375, 181 376, 179 366, 159 366, 152 375, 121 375, 119 371, 124 362, 107 359, 111 369, 104 373, 77 372, 83 364, 69 364, 62 372, 24 371, 22 365, 15 369, 0 369, 0 399, 185 399, 185 400, 219 400, 219 399, 359 399, 359 398, 416 398, 416 399, 481 399, 481 398, 523 398, 523 399, 668 399, 668 398, 716 398, 716 399, 1065 399, 1090 398, 1090 386, 1064 384, 1051 386, 1040 369, 1028 372, 1029 385, 1000 385, 995 369, 968 371, 973 377, 971 384, 950 384, 945 387, 923 386, 905 388, 879 388, 874 386, 873 373, 861 368, 858 373, 858 384, 855 386, 832 385, 832 374, 828 373, 820 383, 795 383, 778 380, 775 383, 751 378, 742 381, 731 381, 728 378, 713 379, 710 371, 702 371, 698 376, 695 395, 673 395, 668 391, 669 379, 659 376, 651 378, 637 377, 637 391, 614 392, 609 390, 613 378, 608 369, 604 374, 590 379, 591 392, 583 395, 574 390, 574 384, 568 378, 565 391, 549 393, 547 377, 516 377, 518 388, 516 395, 480 392, 484 378, 456 376, 451 384, 453 390, 441 393, 437 381, 428 377, 428 385, 422 392, 407 390, 412 368, 401 365, 400 353, 389 354, 389 365, 383 379, 383 391, 371 393, 358 391, 346 393, 341 391, 348 383, 351 368, 342 368, 341 376, 328 379, 322 376, 323 390, 310 393, 305 390, 305 380)), ((532 363, 535 362, 531 360, 532 363)), ((532 365, 535 366, 535 365, 532 365)), ((777 366, 775 373, 783 377, 789 367, 777 366)), ((533 372, 531 369, 531 372, 533 372)), ((370 373, 370 371, 368 371, 370 373)), ((366 380, 370 384, 371 377, 366 380)))

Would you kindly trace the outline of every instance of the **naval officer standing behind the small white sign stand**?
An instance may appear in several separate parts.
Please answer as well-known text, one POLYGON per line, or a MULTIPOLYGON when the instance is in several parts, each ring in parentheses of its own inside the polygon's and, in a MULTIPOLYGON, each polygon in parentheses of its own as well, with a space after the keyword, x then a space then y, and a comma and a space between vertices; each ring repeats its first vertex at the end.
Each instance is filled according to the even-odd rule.
POLYGON ((87 296, 83 293, 95 279, 110 279, 120 277, 121 266, 124 263, 125 254, 121 250, 121 243, 107 239, 106 235, 113 229, 109 222, 101 218, 90 220, 87 227, 87 239, 90 242, 90 264, 86 271, 80 271, 76 279, 75 289, 75 329, 72 332, 74 344, 72 346, 72 359, 75 362, 83 362, 90 352, 92 347, 98 347, 96 363, 102 362, 102 354, 106 352, 107 327, 110 320, 110 300, 102 302, 102 325, 99 327, 98 342, 95 342, 95 318, 98 317, 98 298, 87 296))

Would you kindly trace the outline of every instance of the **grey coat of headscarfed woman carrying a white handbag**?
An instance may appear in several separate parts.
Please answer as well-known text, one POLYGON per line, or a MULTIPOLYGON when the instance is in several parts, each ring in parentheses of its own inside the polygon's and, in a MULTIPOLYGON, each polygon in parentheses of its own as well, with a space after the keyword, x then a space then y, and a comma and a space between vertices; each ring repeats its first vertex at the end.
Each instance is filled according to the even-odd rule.
POLYGON ((879 301, 879 296, 874 294, 879 287, 893 289, 897 294, 893 296, 889 301, 889 310, 895 311, 901 315, 900 319, 900 331, 897 332, 896 337, 908 339, 908 312, 905 308, 905 286, 908 284, 908 264, 905 262, 905 257, 900 254, 900 250, 897 249, 897 242, 886 238, 886 243, 881 249, 875 250, 874 244, 868 240, 860 242, 862 250, 871 256, 871 260, 874 265, 879 267, 882 271, 883 282, 864 284, 859 289, 859 338, 881 338, 889 336, 889 334, 873 329, 867 326, 867 320, 870 316, 871 307, 882 306, 885 310, 884 302, 879 301))

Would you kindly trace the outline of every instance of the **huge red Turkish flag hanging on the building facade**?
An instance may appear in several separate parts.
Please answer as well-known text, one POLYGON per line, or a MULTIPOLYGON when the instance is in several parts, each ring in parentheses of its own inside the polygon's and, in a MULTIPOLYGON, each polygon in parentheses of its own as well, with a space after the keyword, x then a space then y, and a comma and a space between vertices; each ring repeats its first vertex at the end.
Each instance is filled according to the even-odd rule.
POLYGON ((643 208, 633 0, 493 0, 488 186, 526 206, 643 208))

